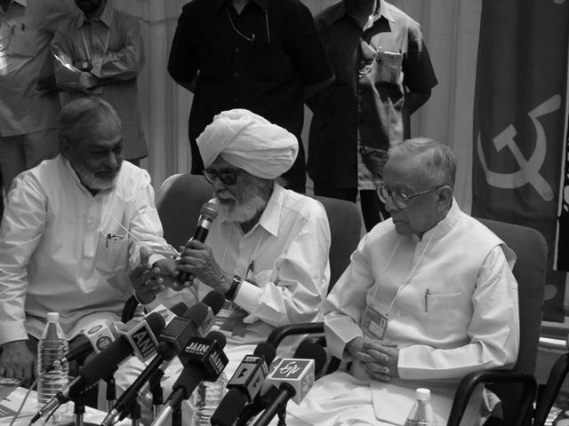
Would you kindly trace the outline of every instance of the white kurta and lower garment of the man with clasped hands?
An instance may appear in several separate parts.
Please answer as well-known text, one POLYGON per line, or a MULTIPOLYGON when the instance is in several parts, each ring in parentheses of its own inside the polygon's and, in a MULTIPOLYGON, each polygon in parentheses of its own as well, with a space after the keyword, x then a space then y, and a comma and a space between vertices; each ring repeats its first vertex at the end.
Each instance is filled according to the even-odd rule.
MULTIPOLYGON (((414 389, 428 387, 439 424, 445 424, 461 378, 486 368, 512 367, 517 359, 515 255, 456 201, 435 228, 400 236, 389 219, 365 235, 323 305, 325 334, 339 358, 368 306, 388 312, 385 339, 400 348, 391 383, 369 380, 357 363, 315 385, 292 416, 315 425, 403 424, 414 389), (358 380, 359 379, 359 380, 358 380)), ((474 424, 478 406, 463 424, 474 424)), ((290 422, 290 424, 296 424, 290 422)))

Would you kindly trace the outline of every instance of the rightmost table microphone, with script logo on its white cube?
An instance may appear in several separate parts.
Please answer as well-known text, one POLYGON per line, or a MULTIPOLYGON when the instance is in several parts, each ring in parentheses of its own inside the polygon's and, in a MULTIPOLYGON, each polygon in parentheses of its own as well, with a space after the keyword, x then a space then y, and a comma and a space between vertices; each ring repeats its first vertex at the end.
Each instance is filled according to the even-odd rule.
POLYGON ((301 403, 312 388, 316 372, 325 365, 326 352, 319 344, 305 341, 294 352, 294 357, 281 360, 268 375, 268 382, 278 386, 278 391, 254 426, 267 426, 278 412, 284 410, 289 399, 301 403))

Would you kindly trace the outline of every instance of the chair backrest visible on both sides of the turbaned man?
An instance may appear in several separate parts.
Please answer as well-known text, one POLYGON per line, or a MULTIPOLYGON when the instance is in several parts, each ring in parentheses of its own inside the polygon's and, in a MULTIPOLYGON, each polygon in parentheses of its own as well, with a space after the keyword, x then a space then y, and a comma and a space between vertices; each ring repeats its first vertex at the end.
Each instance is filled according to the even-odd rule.
MULTIPOLYGON (((162 221, 164 238, 178 248, 188 241, 196 229, 197 217, 212 198, 212 185, 203 176, 177 174, 168 177, 156 193, 156 209, 162 221)), ((349 256, 357 248, 362 229, 356 205, 349 201, 313 197, 326 210, 331 229, 330 286, 340 278, 349 264, 349 256)))

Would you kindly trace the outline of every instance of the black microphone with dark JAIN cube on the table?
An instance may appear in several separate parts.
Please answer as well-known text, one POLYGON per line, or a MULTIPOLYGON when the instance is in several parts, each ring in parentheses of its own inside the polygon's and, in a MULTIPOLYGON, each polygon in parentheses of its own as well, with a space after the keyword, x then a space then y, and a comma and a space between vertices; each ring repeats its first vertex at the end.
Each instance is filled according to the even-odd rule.
POLYGON ((223 368, 228 365, 228 357, 223 352, 226 339, 219 331, 212 331, 205 337, 193 338, 184 348, 184 368, 172 385, 172 393, 151 426, 161 426, 168 421, 172 411, 188 399, 200 382, 215 382, 223 368))

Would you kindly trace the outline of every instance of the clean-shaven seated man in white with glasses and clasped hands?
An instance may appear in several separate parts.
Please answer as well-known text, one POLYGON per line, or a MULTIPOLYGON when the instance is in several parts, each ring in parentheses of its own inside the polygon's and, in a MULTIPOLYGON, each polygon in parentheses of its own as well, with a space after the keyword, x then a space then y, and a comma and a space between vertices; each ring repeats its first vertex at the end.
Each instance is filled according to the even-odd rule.
MULTIPOLYGON (((445 424, 464 375, 515 364, 515 255, 461 211, 455 171, 429 138, 389 150, 379 194, 391 218, 360 241, 322 308, 329 350, 353 362, 289 404, 289 426, 402 425, 419 387, 445 424)), ((462 425, 479 422, 480 396, 462 425)))

